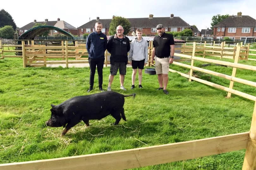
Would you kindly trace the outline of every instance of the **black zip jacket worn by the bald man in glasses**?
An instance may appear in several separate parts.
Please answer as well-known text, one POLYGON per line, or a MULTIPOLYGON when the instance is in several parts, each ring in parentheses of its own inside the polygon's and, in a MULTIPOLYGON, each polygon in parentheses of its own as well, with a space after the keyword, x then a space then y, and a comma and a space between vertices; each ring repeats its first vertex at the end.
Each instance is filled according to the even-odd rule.
POLYGON ((119 41, 117 34, 111 36, 107 42, 107 50, 111 54, 110 64, 113 64, 113 62, 125 62, 127 64, 127 53, 130 51, 129 38, 123 34, 123 38, 119 41))

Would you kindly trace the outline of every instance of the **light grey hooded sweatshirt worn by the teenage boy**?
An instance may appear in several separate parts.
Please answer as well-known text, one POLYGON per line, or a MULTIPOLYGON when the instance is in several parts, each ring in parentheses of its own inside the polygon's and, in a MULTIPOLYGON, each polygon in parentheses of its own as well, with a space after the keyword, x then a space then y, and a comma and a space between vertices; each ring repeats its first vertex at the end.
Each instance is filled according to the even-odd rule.
POLYGON ((146 39, 141 38, 139 42, 137 37, 131 41, 131 49, 128 60, 141 61, 145 59, 148 62, 148 42, 146 39))

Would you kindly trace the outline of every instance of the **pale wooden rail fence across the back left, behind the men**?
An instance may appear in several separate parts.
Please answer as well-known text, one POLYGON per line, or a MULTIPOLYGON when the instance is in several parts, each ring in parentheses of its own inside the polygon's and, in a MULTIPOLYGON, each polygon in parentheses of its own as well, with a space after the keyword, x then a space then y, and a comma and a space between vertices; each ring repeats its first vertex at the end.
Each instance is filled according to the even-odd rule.
MULTIPOLYGON (((88 52, 86 50, 86 44, 78 44, 75 41, 75 46, 69 46, 68 41, 61 41, 60 46, 46 46, 46 45, 34 45, 34 41, 29 40, 28 45, 25 45, 25 41, 21 41, 21 45, 2 45, 0 49, 2 50, 0 54, 3 59, 5 57, 22 57, 23 67, 46 67, 46 64, 76 64, 76 63, 88 63, 88 52), (18 47, 20 50, 3 50, 3 47, 18 47), (7 56, 3 55, 3 52, 20 52, 22 56, 7 56), (58 58, 62 60, 50 61, 47 59, 58 58), (75 60, 69 60, 70 58, 75 58, 75 60)), ((1 44, 1 42, 0 42, 1 44)), ((149 43, 148 47, 148 57, 151 55, 152 41, 149 43)), ((110 63, 109 59, 110 53, 105 51, 105 66, 110 63)), ((150 61, 149 61, 150 64, 150 61)))

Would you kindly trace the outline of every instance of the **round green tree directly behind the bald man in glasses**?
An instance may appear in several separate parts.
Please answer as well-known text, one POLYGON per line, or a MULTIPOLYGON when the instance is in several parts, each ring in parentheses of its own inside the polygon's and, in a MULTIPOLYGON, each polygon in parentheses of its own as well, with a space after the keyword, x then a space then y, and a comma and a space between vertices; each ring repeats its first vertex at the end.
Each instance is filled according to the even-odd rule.
POLYGON ((115 16, 110 22, 109 26, 109 35, 114 35, 116 33, 117 26, 123 26, 124 34, 127 35, 131 31, 131 23, 128 19, 123 18, 121 16, 115 16))

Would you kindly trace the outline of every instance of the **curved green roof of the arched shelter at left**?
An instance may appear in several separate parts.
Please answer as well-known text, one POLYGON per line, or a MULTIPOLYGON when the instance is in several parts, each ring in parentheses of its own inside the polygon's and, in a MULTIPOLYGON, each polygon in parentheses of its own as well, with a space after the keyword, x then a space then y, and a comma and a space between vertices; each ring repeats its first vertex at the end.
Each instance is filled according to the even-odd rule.
MULTIPOLYGON (((43 25, 43 26, 36 26, 34 28, 31 28, 31 29, 27 30, 26 32, 21 34, 21 36, 19 37, 19 40, 23 40, 23 39, 33 40, 35 38, 35 36, 37 36, 39 34, 42 34, 46 31, 50 31, 50 30, 56 30, 56 31, 70 37, 72 40, 75 39, 70 33, 64 31, 63 29, 60 29, 60 28, 55 27, 55 26, 43 25)), ((18 41, 18 44, 21 44, 21 41, 18 41)))

